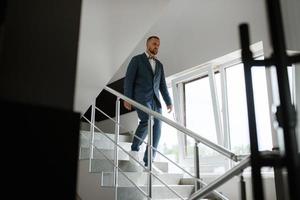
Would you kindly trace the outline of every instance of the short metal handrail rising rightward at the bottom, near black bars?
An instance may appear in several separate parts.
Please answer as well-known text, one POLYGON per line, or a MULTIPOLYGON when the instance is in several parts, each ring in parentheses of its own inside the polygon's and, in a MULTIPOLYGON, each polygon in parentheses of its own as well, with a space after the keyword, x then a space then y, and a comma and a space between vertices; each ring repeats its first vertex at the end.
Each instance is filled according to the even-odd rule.
POLYGON ((188 200, 195 200, 203 198, 208 195, 212 190, 223 185, 225 182, 233 178, 234 176, 240 174, 244 169, 251 165, 250 155, 243 159, 239 164, 228 170, 224 175, 220 176, 207 186, 203 187, 198 192, 195 192, 188 200))

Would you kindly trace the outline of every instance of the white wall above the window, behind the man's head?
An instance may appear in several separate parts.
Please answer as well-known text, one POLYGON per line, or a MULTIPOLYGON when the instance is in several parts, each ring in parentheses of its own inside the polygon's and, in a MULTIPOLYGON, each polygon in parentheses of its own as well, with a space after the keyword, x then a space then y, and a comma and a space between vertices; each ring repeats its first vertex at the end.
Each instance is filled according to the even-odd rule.
MULTIPOLYGON (((148 35, 161 38, 159 59, 167 75, 178 73, 240 48, 238 26, 250 25, 251 41, 263 41, 268 53, 269 38, 264 1, 261 0, 172 0, 148 35)), ((124 76, 130 58, 145 49, 140 41, 112 81, 124 76)))

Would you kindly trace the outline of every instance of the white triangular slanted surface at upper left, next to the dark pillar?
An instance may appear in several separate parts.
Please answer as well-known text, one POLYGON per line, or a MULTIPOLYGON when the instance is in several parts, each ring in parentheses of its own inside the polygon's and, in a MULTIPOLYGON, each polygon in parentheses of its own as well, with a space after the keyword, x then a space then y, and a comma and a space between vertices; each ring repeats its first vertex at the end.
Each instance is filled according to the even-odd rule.
POLYGON ((83 0, 76 111, 85 112, 169 0, 83 0))

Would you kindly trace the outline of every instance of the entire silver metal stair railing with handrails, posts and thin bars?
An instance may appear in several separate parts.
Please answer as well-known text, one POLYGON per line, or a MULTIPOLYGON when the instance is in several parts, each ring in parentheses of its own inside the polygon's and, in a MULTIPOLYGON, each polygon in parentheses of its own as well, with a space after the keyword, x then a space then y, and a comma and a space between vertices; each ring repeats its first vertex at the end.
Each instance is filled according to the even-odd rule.
MULTIPOLYGON (((114 162, 111 164, 114 166, 114 186, 116 188, 116 192, 115 192, 115 199, 117 199, 117 187, 118 187, 118 171, 120 171, 124 177, 126 177, 127 179, 129 179, 126 174, 119 168, 118 166, 118 148, 120 148, 122 151, 124 151, 131 159, 133 159, 135 162, 137 162, 142 168, 144 168, 145 171, 148 172, 148 194, 146 194, 142 189, 140 189, 136 184, 133 183, 133 185, 135 187, 137 187, 139 189, 139 191, 142 192, 143 195, 145 195, 148 199, 152 199, 152 176, 154 176, 157 180, 159 180, 164 186, 166 186, 173 194, 175 194, 178 198, 180 199, 184 199, 182 196, 180 196, 176 191, 174 191, 172 188, 170 188, 164 181, 162 181, 159 177, 157 177, 157 175, 155 175, 152 172, 152 150, 155 150, 157 153, 159 153, 160 155, 162 155, 164 158, 166 158, 167 160, 169 160, 172 164, 174 164, 175 166, 177 166, 179 169, 181 169, 183 172, 187 173, 188 175, 190 175, 197 183, 200 183, 202 186, 204 186, 200 191, 195 192, 189 199, 195 199, 195 198, 199 198, 199 196, 203 196, 203 195, 207 195, 208 193, 213 193, 214 195, 216 195, 217 197, 219 197, 220 199, 223 200, 227 200, 228 198, 226 196, 224 196, 223 194, 219 193, 218 191, 215 190, 215 188, 217 188, 218 186, 220 186, 220 184, 223 184, 224 182, 226 182, 227 180, 229 180, 230 178, 232 178, 233 176, 240 174, 241 169, 246 168, 249 166, 249 157, 246 157, 242 160, 242 162, 240 162, 238 165, 236 165, 234 168, 232 168, 231 170, 229 170, 227 173, 225 173, 223 176, 221 176, 220 178, 216 179, 213 183, 211 184, 206 184, 205 182, 203 182, 199 177, 192 175, 190 172, 188 172, 187 170, 185 170, 183 167, 181 167, 180 165, 178 165, 176 162, 172 161, 171 159, 169 159, 167 156, 165 156, 163 153, 159 152, 156 148, 154 148, 152 146, 152 137, 153 137, 153 130, 152 130, 152 123, 153 123, 153 118, 157 118, 167 124, 169 124, 170 126, 174 127, 175 129, 179 130, 180 132, 182 132, 185 135, 188 135, 190 137, 192 137, 193 139, 195 139, 196 141, 196 145, 198 143, 202 143, 204 145, 206 145, 207 147, 219 152, 220 154, 222 154, 223 156, 226 156, 227 158, 237 162, 240 159, 242 159, 241 156, 238 156, 236 154, 234 154, 233 152, 229 151, 228 149, 215 144, 209 140, 207 140, 204 137, 201 137, 200 135, 196 134, 195 132, 183 127, 182 125, 162 116, 160 113, 157 113, 141 104, 139 104, 138 102, 124 96, 123 94, 109 88, 109 87, 105 87, 104 88, 106 91, 110 92, 111 94, 115 95, 117 97, 117 101, 116 101, 116 119, 112 119, 111 117, 109 117, 105 112, 103 112, 102 110, 100 110, 99 108, 97 108, 95 106, 95 104, 92 105, 92 112, 91 112, 91 121, 88 120, 86 117, 82 116, 88 123, 91 124, 91 141, 90 141, 90 145, 91 145, 91 151, 94 150, 95 144, 94 144, 94 140, 95 140, 95 132, 94 130, 97 129, 100 133, 102 133, 104 136, 106 136, 112 143, 114 143, 115 145, 115 151, 114 151, 114 162), (128 103, 130 103, 131 105, 133 105, 134 107, 144 111, 145 113, 147 113, 150 117, 149 117, 149 121, 148 121, 148 142, 145 142, 144 140, 142 140, 141 138, 135 136, 134 134, 133 137, 136 137, 137 139, 139 139, 140 141, 142 141, 143 143, 145 143, 147 145, 148 148, 148 167, 145 167, 142 163, 140 163, 138 160, 136 160, 130 153, 128 153, 122 146, 119 145, 119 132, 120 132, 120 127, 123 127, 120 124, 120 99, 123 99, 125 101, 127 101, 128 103), (94 110, 94 111, 93 111, 94 110), (95 126, 95 110, 98 110, 99 112, 101 112, 102 114, 104 114, 106 117, 108 117, 110 120, 112 120, 115 123, 115 140, 109 138, 107 135, 105 135, 105 133, 100 130, 97 126, 95 126), (212 185, 213 184, 213 185, 212 185), (217 187, 216 187, 217 185, 217 187)), ((130 133, 130 132, 129 132, 130 133)), ((97 148, 96 148, 97 149, 97 148)), ((99 150, 99 149, 97 149, 99 150)), ((104 155, 104 153, 103 153, 104 155)), ((104 157, 106 157, 104 155, 104 157)), ((244 156, 245 157, 245 156, 244 156)), ((107 158, 107 157, 106 157, 107 158)), ((90 152, 90 170, 91 170, 91 163, 92 163, 92 159, 93 159, 93 153, 90 152)), ((108 159, 108 158, 107 158, 108 159)), ((109 159, 108 159, 109 160, 109 159)), ((110 161, 110 160, 109 160, 110 161)), ((199 162, 195 162, 195 169, 197 167, 197 165, 199 165, 199 162)), ((199 166, 198 166, 199 167, 199 166)), ((132 182, 131 180, 129 180, 130 182, 132 182)), ((197 188, 197 186, 196 186, 197 188)))

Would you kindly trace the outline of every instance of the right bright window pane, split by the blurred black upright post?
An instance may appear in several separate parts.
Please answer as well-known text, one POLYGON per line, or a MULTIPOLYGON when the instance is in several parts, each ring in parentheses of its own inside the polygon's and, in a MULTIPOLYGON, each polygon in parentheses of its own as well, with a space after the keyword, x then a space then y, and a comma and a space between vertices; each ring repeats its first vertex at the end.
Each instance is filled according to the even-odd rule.
MULTIPOLYGON (((265 68, 253 67, 252 78, 259 150, 271 150, 272 130, 265 68)), ((231 150, 236 154, 248 154, 250 143, 243 64, 226 68, 226 80, 231 150)))

